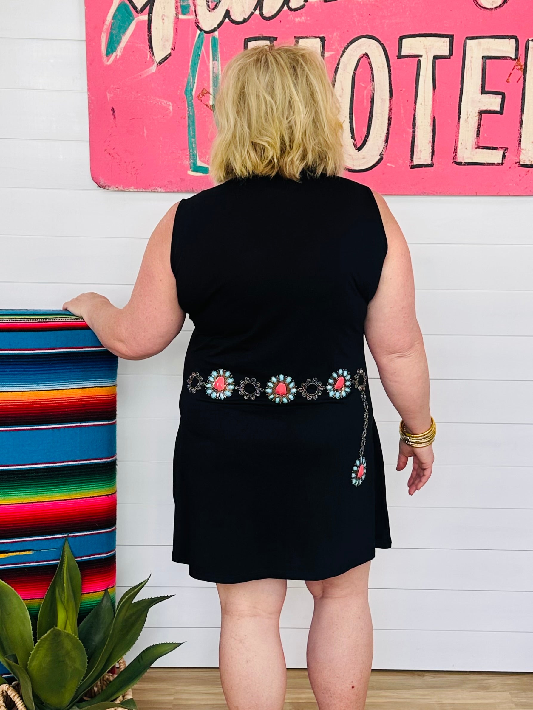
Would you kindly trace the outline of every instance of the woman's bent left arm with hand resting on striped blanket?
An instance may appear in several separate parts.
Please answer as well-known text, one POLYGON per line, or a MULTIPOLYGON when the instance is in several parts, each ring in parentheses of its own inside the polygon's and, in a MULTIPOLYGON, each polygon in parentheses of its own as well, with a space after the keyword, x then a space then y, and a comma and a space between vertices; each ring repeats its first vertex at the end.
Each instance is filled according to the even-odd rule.
POLYGON ((171 269, 174 204, 154 229, 144 252, 129 302, 117 308, 97 293, 82 293, 63 304, 81 316, 99 341, 126 360, 156 355, 181 331, 185 313, 178 304, 171 269))

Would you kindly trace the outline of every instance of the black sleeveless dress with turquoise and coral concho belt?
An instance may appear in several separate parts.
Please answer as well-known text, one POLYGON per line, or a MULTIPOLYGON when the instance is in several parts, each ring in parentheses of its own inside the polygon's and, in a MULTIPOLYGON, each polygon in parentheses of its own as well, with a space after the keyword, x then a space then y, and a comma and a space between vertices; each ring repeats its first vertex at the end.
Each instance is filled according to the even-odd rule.
POLYGON ((387 238, 368 187, 254 176, 181 200, 195 325, 174 455, 174 562, 195 579, 325 579, 391 547, 363 331, 387 238))

